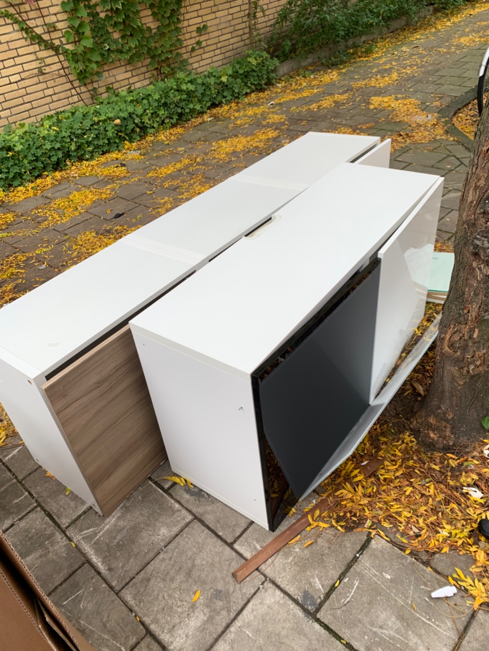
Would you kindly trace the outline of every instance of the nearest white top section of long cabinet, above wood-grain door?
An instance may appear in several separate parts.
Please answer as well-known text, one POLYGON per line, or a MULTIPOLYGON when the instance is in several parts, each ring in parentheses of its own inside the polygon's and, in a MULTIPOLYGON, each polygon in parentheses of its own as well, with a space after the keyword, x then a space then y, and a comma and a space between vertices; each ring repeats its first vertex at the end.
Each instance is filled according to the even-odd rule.
POLYGON ((2 307, 1 346, 46 374, 190 269, 120 240, 2 307))

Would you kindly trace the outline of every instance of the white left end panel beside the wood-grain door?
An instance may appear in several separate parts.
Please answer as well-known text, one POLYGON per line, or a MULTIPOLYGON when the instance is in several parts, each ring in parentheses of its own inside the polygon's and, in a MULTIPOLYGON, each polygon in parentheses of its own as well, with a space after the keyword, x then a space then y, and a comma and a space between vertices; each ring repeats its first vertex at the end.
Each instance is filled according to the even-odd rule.
POLYGON ((34 380, 3 359, 0 359, 0 402, 38 464, 97 508, 95 497, 41 389, 34 380))

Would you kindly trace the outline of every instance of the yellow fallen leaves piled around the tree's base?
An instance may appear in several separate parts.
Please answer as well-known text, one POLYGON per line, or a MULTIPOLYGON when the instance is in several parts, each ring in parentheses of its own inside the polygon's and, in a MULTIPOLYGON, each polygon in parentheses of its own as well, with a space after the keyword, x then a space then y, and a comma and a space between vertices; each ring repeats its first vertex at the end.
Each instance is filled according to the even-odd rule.
MULTIPOLYGON (((430 350, 415 374, 426 375, 433 365, 430 350)), ((401 391, 409 393, 412 383, 410 376, 401 391)), ((323 482, 321 497, 332 499, 333 508, 320 517, 314 514, 310 529, 327 525, 339 531, 370 531, 406 553, 470 554, 471 572, 477 578, 457 570, 451 582, 469 592, 475 609, 489 603, 489 563, 484 551, 489 542, 477 533, 479 520, 489 518, 489 439, 455 452, 423 450, 402 414, 395 421, 379 419, 351 457, 323 482), (361 464, 376 456, 385 459, 383 465, 364 479, 361 464)))

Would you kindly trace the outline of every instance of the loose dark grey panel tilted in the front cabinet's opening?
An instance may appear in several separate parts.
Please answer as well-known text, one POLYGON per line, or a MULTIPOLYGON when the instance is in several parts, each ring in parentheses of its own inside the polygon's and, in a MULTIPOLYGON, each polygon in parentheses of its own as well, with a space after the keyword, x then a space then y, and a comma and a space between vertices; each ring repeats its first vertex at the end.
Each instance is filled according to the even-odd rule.
POLYGON ((302 495, 368 407, 379 267, 259 386, 263 431, 302 495))

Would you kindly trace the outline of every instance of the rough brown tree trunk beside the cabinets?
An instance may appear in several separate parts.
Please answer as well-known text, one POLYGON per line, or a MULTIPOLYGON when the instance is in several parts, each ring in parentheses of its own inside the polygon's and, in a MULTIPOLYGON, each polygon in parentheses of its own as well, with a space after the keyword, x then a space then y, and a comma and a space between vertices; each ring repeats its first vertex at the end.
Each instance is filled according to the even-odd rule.
POLYGON ((484 436, 489 415, 489 109, 482 113, 455 233, 455 266, 430 390, 413 420, 422 443, 449 449, 484 436))

